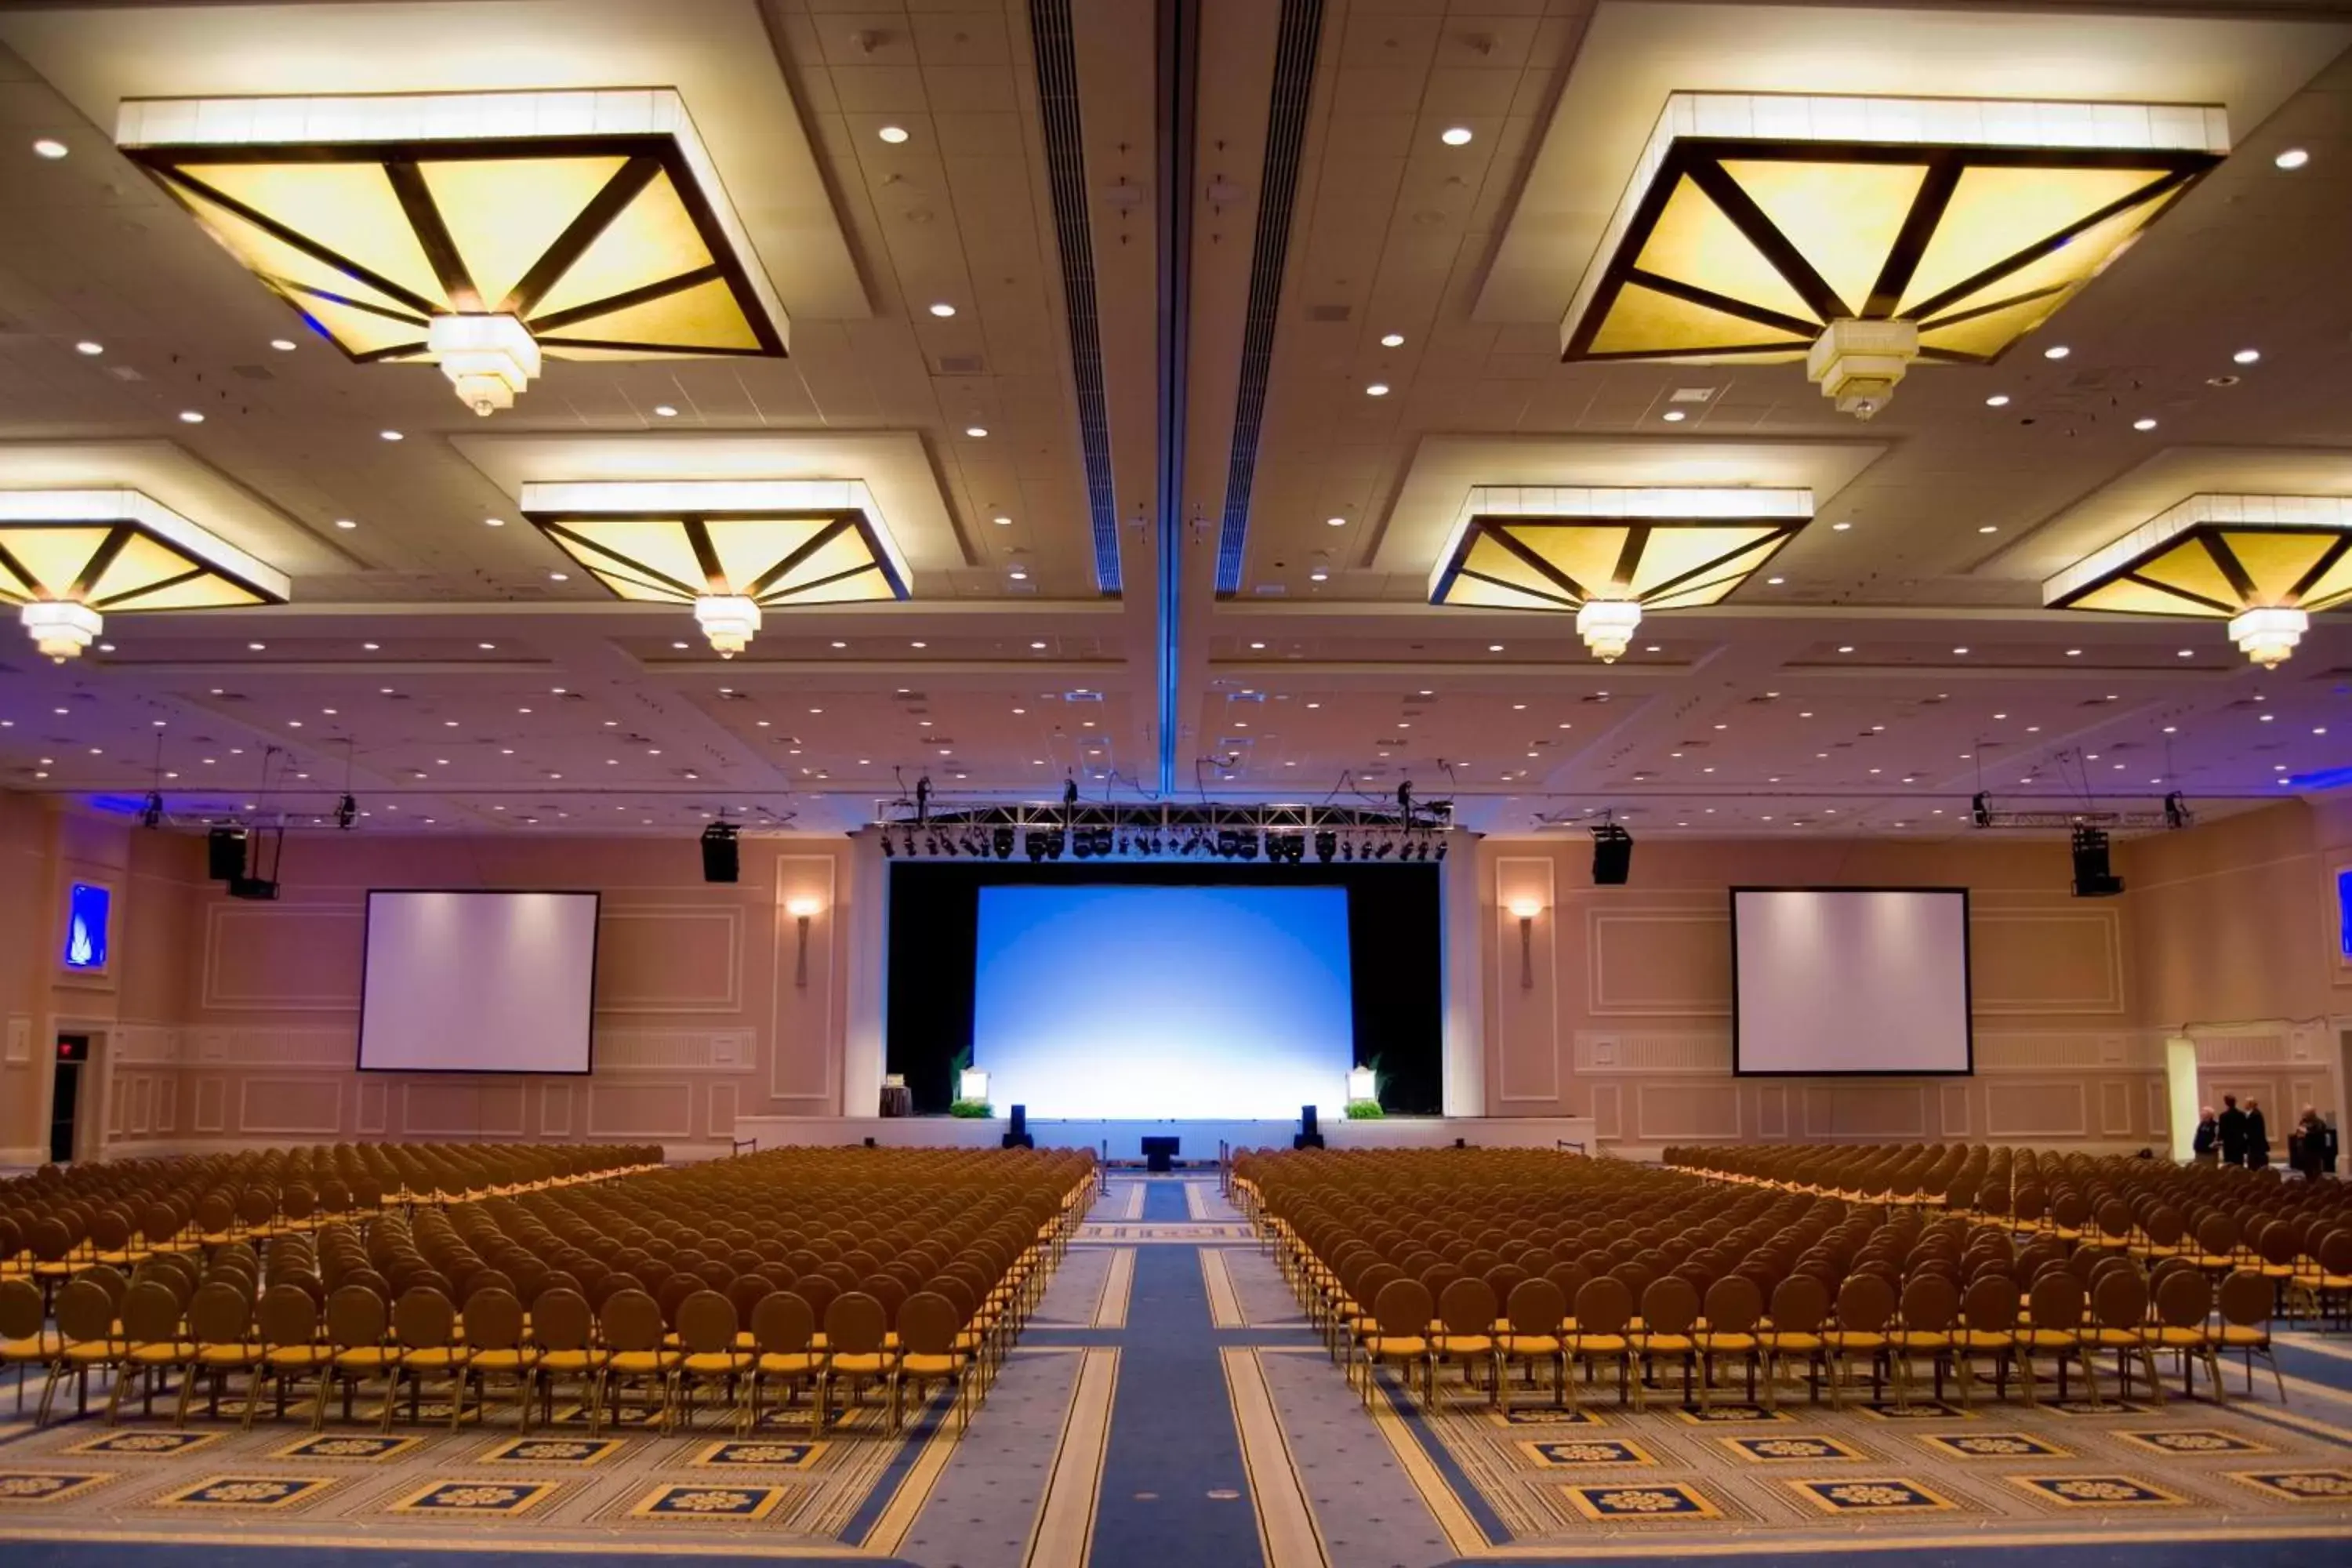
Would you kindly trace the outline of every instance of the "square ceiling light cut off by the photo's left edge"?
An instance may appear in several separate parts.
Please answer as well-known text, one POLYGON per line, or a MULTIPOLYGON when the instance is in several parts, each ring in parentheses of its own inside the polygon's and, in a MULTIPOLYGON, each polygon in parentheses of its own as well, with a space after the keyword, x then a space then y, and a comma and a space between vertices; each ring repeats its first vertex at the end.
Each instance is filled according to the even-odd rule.
POLYGON ((56 663, 115 611, 285 604, 287 578, 134 489, 0 491, 0 604, 56 663))

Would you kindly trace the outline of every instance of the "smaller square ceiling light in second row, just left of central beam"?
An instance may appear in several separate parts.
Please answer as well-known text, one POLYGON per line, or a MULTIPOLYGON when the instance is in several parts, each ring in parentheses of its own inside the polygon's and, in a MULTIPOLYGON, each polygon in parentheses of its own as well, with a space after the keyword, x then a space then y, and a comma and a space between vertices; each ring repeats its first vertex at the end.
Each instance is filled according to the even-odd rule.
POLYGON ((856 480, 524 484, 522 515, 623 599, 691 604, 720 658, 779 604, 908 597, 906 557, 856 480))

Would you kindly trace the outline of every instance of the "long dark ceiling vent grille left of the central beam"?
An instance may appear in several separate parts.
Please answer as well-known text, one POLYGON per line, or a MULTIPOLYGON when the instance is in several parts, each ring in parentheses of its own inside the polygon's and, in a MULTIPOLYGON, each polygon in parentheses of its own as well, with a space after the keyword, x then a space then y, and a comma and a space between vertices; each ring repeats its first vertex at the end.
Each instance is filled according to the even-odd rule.
POLYGON ((1094 299, 1094 228, 1087 221, 1087 150, 1077 118, 1077 49, 1070 0, 1030 0, 1037 52, 1037 110, 1061 247, 1061 301, 1070 317, 1070 381, 1077 386, 1077 442, 1087 456, 1087 512, 1094 522, 1094 585, 1120 592, 1120 515, 1110 487, 1110 404, 1103 397, 1103 329, 1094 299))

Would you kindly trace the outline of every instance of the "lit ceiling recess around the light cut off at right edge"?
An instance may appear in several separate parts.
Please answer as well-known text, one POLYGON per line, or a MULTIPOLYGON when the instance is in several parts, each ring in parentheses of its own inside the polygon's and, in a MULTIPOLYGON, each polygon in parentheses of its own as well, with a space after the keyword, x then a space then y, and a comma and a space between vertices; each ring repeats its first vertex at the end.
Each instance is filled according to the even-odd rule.
POLYGON ((2171 447, 2044 522, 1978 576, 2053 578, 2190 496, 2352 496, 2352 456, 2310 447, 2171 447))

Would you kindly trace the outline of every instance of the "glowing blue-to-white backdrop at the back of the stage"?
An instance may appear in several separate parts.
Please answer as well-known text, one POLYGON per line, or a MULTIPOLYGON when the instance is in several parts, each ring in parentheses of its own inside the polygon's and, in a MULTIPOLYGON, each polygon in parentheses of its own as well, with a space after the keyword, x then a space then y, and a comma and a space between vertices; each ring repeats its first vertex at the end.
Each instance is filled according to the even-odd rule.
POLYGON ((1336 1107, 1348 889, 983 886, 971 1058, 1033 1117, 1336 1107))

